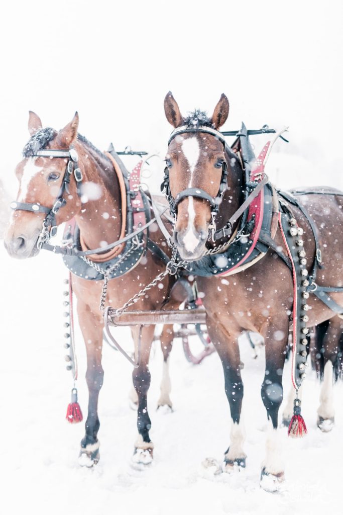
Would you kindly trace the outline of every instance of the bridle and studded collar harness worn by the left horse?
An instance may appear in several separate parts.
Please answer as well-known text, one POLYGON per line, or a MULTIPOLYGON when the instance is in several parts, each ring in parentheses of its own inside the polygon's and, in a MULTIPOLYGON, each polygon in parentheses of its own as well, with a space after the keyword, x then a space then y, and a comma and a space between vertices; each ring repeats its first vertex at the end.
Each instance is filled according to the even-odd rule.
POLYGON ((110 245, 84 250, 82 236, 75 219, 71 219, 66 225, 62 246, 49 243, 50 237, 57 233, 56 215, 67 202, 64 193, 70 193, 69 183, 73 174, 76 180, 77 194, 81 197, 83 175, 78 167, 78 155, 74 147, 70 147, 69 150, 38 150, 32 156, 68 158, 59 194, 51 208, 39 203, 17 201, 11 203, 13 210, 45 213, 42 230, 38 237, 38 248, 62 254, 63 261, 71 272, 89 280, 102 280, 106 277, 108 281, 127 273, 136 266, 148 249, 165 264, 169 262, 167 254, 149 238, 149 227, 155 222, 155 218, 150 216, 150 199, 140 188, 139 177, 143 161, 140 161, 129 175, 112 145, 109 152, 106 152, 106 156, 112 162, 118 177, 122 206, 124 207, 120 237, 110 245), (126 235, 124 235, 125 233, 126 235), (107 253, 111 254, 111 259, 106 259, 107 253))

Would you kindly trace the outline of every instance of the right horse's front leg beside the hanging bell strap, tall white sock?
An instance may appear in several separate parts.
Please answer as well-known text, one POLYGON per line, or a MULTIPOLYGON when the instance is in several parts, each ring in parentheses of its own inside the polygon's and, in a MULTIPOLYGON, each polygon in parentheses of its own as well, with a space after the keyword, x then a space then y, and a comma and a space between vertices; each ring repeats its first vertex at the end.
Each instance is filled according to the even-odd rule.
POLYGON ((265 375, 261 387, 261 397, 269 421, 266 439, 266 453, 262 463, 261 486, 268 491, 277 491, 284 480, 282 459, 282 433, 278 429, 278 413, 283 399, 282 372, 288 340, 288 319, 269 323, 264 336, 265 375))

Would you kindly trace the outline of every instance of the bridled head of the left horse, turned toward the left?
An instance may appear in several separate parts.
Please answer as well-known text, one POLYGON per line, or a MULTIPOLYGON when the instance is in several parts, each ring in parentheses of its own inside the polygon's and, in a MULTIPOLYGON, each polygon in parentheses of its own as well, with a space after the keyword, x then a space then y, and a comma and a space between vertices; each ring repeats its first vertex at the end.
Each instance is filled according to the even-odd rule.
POLYGON ((13 202, 14 211, 4 242, 8 253, 14 258, 30 258, 39 252, 37 242, 43 221, 62 191, 64 200, 60 209, 56 209, 56 213, 51 215, 54 224, 49 225, 60 225, 75 216, 80 209, 76 180, 71 178, 70 185, 62 188, 69 162, 68 157, 63 154, 67 156, 73 146, 78 124, 79 116, 75 113, 73 120, 60 131, 43 128, 39 116, 30 111, 28 128, 31 138, 24 147, 24 159, 15 169, 19 191, 16 202, 13 202), (44 157, 40 155, 44 153, 43 150, 46 153, 49 150, 62 150, 60 154, 63 157, 44 157), (64 203, 67 199, 70 199, 69 202, 64 203))

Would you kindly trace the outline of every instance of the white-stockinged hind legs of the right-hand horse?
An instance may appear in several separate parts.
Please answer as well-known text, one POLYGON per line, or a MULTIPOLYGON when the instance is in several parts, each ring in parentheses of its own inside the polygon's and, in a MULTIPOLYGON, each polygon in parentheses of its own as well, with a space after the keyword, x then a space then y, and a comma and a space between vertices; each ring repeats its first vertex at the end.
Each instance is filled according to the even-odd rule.
MULTIPOLYGON (((312 328, 309 354, 321 388, 317 409, 317 427, 323 433, 332 431, 335 424, 333 386, 343 375, 343 320, 337 315, 312 328)), ((303 386, 299 389, 302 398, 303 386)), ((293 388, 282 412, 282 424, 289 426, 293 416, 293 388)))

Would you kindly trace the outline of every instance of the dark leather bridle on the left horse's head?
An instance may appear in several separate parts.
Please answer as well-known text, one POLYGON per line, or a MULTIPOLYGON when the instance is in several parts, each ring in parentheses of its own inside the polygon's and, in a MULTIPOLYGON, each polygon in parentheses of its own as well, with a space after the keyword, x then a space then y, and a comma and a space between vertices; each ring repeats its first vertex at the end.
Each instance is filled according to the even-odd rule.
POLYGON ((82 181, 82 171, 78 167, 78 154, 74 147, 70 147, 69 150, 38 150, 32 157, 42 157, 42 158, 68 158, 69 161, 65 168, 63 181, 60 187, 60 191, 58 196, 55 199, 55 202, 52 204, 52 208, 47 208, 44 205, 38 203, 29 203, 29 202, 17 202, 14 201, 11 203, 11 208, 14 211, 31 211, 33 213, 46 213, 46 216, 43 220, 43 227, 41 233, 38 237, 37 247, 40 249, 42 245, 48 241, 49 237, 56 236, 57 233, 57 225, 56 225, 56 215, 61 208, 66 204, 66 199, 63 198, 64 192, 69 192, 69 182, 70 176, 74 172, 74 177, 77 184, 77 194, 81 196, 81 181, 82 181), (50 230, 48 229, 50 227, 50 230))

